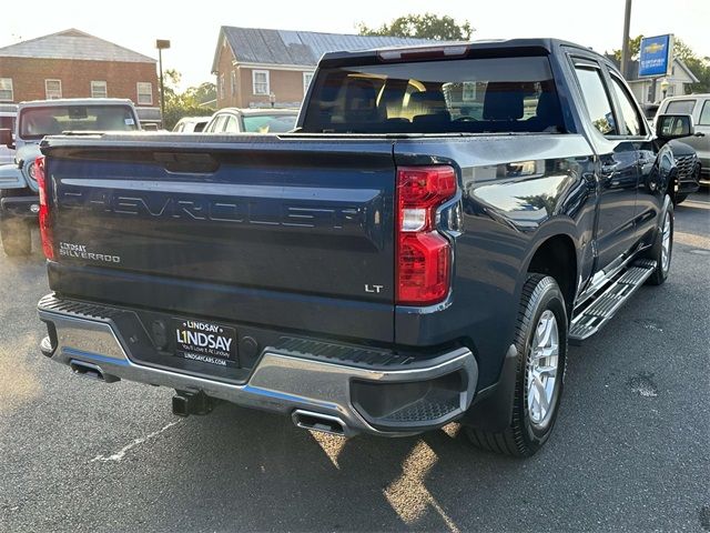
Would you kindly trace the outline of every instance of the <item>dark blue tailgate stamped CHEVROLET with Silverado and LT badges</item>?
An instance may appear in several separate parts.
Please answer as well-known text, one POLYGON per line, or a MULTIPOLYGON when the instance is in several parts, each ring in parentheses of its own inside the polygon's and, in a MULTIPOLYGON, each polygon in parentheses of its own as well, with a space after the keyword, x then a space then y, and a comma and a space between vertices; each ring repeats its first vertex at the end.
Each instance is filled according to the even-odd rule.
POLYGON ((281 326, 320 302, 323 323, 312 315, 307 328, 346 336, 372 308, 376 336, 392 341, 393 320, 382 320, 394 312, 390 141, 104 135, 50 141, 44 152, 55 291, 131 304, 132 280, 159 310, 281 326), (175 301, 168 285, 202 304, 175 301), (222 304, 244 291, 280 312, 222 304))

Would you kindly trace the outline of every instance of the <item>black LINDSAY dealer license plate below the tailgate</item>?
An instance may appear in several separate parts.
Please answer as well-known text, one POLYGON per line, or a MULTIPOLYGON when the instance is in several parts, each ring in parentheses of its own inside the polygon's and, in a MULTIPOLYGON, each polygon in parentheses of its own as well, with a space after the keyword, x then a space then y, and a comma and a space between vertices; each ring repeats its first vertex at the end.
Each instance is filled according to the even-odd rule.
POLYGON ((236 364, 236 330, 226 325, 174 319, 175 355, 203 363, 236 364))

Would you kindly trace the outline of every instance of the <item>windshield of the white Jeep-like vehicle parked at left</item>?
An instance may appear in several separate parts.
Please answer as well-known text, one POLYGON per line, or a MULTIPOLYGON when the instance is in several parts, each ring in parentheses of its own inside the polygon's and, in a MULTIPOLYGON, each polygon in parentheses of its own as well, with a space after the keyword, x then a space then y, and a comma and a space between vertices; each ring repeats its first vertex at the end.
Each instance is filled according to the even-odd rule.
POLYGON ((129 105, 48 105, 20 113, 20 137, 41 139, 63 131, 133 131, 138 129, 129 105))

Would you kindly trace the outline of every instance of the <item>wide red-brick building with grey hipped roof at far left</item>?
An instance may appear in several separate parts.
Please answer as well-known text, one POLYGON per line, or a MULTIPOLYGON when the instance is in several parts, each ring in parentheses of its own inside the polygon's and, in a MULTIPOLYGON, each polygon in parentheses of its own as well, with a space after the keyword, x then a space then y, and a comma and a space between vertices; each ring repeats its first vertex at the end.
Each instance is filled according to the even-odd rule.
POLYGON ((155 60, 74 29, 0 48, 0 102, 105 97, 156 107, 155 60))

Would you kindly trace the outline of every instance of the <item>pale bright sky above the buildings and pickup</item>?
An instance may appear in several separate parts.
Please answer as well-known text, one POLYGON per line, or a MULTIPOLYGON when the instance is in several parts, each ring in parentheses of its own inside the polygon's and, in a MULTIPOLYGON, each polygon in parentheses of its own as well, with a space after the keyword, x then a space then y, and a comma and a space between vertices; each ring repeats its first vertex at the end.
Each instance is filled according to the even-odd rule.
MULTIPOLYGON (((11 0, 7 0, 10 1, 11 0)), ((155 39, 169 39, 163 68, 182 73, 182 89, 214 81, 212 59, 221 26, 356 33, 399 16, 434 12, 470 21, 473 39, 555 37, 604 52, 621 48, 625 0, 32 0, 3 9, 0 47, 77 28, 158 58, 155 39)), ((632 0, 630 36, 674 33, 710 56, 710 0, 632 0)))

